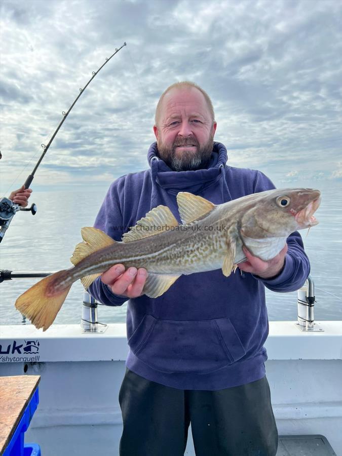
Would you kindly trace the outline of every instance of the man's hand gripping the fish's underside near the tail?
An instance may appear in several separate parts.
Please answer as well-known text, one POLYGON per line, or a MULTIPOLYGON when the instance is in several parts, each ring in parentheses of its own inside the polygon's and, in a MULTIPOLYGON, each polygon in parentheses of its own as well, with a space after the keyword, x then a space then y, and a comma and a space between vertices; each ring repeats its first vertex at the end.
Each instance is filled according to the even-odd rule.
POLYGON ((101 280, 114 294, 133 298, 142 295, 146 277, 147 271, 144 268, 128 268, 125 272, 123 264, 115 264, 102 274, 101 280))

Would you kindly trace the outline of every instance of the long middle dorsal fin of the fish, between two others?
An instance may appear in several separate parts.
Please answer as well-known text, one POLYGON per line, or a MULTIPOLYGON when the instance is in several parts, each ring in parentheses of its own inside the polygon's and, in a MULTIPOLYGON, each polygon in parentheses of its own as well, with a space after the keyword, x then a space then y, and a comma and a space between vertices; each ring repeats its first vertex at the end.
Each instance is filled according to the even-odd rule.
POLYGON ((169 227, 178 226, 178 222, 167 206, 151 209, 145 217, 140 218, 131 230, 122 237, 123 242, 138 241, 168 231, 169 227))

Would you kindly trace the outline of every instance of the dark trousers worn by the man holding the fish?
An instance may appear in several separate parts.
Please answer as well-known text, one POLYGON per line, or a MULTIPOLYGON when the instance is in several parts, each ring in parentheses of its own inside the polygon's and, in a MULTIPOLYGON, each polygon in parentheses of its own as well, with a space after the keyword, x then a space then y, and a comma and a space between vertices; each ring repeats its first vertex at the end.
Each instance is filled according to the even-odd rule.
POLYGON ((183 456, 189 423, 196 456, 275 456, 267 378, 219 391, 178 390, 126 370, 119 394, 120 456, 183 456))

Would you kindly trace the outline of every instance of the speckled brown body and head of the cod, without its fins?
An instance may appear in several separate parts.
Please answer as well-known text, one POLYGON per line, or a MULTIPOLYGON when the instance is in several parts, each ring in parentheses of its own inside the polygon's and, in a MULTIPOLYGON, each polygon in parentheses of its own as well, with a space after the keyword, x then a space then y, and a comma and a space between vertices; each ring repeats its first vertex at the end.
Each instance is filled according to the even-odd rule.
POLYGON ((116 242, 65 273, 71 283, 117 263, 159 275, 211 271, 222 267, 233 244, 235 264, 246 259, 243 245, 254 256, 268 260, 280 252, 289 234, 318 223, 313 213, 319 204, 320 192, 315 189, 275 189, 248 195, 216 205, 199 220, 173 230, 128 243, 116 242), (282 197, 289 198, 286 207, 279 204, 282 197))

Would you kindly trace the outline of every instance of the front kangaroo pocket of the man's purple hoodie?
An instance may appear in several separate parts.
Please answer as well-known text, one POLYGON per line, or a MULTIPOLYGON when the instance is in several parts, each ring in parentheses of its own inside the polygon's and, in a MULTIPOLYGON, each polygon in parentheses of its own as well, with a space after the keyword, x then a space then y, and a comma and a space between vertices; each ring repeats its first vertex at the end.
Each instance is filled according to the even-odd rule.
POLYGON ((229 318, 171 321, 145 315, 128 345, 145 364, 166 373, 214 372, 246 354, 229 318))

